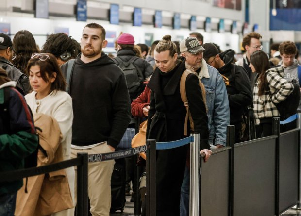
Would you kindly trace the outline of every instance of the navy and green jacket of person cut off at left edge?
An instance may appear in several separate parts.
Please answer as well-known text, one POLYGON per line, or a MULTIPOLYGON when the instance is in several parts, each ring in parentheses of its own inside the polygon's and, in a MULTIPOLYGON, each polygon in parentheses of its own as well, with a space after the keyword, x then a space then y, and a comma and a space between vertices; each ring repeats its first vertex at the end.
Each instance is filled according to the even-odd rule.
MULTIPOLYGON (((38 145, 33 117, 15 86, 0 70, 0 173, 24 168, 24 159, 38 145)), ((0 183, 0 195, 16 193, 22 185, 22 180, 0 183)))

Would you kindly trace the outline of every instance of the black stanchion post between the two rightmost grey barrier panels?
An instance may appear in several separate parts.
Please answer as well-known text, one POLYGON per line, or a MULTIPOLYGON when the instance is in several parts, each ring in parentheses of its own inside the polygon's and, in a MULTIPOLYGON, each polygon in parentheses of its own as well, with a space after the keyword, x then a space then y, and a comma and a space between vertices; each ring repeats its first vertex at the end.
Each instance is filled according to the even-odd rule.
POLYGON ((275 210, 276 216, 279 216, 279 139, 280 139, 280 117, 273 117, 272 122, 273 135, 277 135, 276 142, 276 188, 275 188, 275 210))

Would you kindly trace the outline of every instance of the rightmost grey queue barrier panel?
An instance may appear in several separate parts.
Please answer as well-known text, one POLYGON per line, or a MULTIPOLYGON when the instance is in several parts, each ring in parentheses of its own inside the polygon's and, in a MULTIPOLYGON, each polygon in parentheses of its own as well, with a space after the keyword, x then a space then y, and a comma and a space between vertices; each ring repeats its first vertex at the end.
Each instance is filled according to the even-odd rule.
POLYGON ((299 202, 299 133, 299 129, 280 133, 279 214, 299 202))

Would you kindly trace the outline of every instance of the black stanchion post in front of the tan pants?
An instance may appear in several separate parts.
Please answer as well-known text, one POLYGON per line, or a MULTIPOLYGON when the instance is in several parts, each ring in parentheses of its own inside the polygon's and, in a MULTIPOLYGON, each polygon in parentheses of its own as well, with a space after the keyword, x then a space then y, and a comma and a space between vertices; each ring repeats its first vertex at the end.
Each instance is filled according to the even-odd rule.
POLYGON ((82 165, 77 167, 77 216, 88 216, 88 154, 77 153, 82 165))

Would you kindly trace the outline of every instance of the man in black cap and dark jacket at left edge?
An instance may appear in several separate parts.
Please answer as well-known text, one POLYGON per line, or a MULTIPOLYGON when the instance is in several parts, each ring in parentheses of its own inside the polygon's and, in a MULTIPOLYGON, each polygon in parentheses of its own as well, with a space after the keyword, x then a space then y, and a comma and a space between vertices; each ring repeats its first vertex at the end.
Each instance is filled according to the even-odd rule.
POLYGON ((11 38, 7 34, 0 33, 0 67, 6 71, 12 81, 17 82, 17 90, 26 95, 31 90, 29 79, 11 63, 14 55, 11 38))

